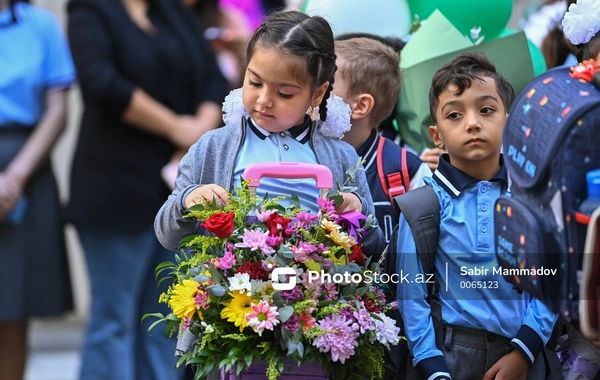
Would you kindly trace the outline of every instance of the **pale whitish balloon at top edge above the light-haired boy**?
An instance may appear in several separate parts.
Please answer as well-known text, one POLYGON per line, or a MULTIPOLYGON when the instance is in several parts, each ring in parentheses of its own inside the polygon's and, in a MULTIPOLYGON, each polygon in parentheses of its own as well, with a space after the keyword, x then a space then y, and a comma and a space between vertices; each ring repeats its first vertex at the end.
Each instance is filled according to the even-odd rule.
POLYGON ((304 13, 324 17, 333 34, 369 33, 400 38, 410 32, 411 17, 406 0, 306 0, 304 13))

